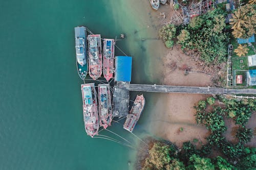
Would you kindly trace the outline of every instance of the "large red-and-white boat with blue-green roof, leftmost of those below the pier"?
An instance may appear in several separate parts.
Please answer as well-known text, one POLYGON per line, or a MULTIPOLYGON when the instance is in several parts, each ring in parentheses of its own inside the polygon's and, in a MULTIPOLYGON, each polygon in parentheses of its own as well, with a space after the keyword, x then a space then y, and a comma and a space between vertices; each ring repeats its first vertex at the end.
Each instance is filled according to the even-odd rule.
POLYGON ((99 130, 99 115, 94 83, 81 84, 81 91, 84 127, 87 134, 93 137, 98 134, 99 130))

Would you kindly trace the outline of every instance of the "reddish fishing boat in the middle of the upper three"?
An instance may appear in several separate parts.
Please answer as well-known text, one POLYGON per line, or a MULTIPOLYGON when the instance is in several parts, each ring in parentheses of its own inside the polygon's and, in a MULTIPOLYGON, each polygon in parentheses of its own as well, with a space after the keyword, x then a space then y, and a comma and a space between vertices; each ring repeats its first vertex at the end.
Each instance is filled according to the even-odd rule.
POLYGON ((102 55, 100 34, 88 35, 89 75, 93 80, 102 74, 102 55))

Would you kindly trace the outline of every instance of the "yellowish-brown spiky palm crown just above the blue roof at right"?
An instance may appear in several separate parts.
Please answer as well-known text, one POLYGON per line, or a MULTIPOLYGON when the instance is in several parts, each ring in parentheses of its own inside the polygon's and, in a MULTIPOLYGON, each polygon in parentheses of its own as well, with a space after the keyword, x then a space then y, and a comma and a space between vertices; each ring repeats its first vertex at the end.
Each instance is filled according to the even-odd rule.
POLYGON ((238 9, 232 14, 229 24, 232 25, 232 29, 241 28, 242 25, 245 25, 246 18, 245 13, 241 12, 241 9, 238 9))

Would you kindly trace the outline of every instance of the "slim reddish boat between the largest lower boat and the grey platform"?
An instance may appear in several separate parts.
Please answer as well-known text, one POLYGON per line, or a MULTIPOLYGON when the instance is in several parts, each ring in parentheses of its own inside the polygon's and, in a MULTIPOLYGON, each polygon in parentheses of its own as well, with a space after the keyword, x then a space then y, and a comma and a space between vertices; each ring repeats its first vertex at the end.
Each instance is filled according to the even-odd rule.
POLYGON ((111 106, 111 92, 109 84, 99 84, 99 125, 106 129, 111 125, 112 120, 112 106, 111 106))

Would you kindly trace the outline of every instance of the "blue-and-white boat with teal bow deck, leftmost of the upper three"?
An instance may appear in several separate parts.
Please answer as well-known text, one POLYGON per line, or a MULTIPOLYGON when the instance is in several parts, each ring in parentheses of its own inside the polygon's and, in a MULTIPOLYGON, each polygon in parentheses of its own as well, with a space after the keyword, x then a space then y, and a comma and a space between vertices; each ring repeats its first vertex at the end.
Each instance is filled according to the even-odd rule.
POLYGON ((86 27, 75 27, 76 66, 82 80, 86 78, 88 70, 86 37, 86 27))

